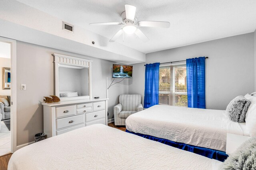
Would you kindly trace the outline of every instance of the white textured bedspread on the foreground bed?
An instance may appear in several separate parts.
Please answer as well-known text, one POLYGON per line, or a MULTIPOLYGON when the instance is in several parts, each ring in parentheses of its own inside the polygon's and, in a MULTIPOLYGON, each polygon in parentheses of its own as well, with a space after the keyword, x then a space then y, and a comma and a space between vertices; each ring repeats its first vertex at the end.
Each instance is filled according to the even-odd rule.
POLYGON ((17 150, 9 170, 211 170, 222 162, 106 125, 76 129, 17 150))

